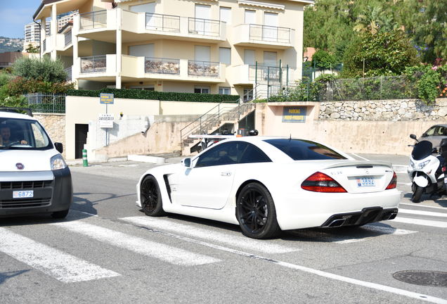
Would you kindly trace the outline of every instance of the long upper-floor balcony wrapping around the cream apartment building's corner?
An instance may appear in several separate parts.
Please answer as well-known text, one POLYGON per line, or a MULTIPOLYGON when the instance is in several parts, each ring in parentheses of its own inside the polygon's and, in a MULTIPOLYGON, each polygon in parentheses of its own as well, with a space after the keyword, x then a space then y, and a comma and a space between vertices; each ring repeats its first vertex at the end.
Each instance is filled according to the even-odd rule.
POLYGON ((136 13, 122 8, 75 15, 74 34, 79 32, 79 37, 115 43, 114 31, 117 29, 117 24, 122 24, 123 31, 137 34, 132 36, 132 42, 145 42, 150 39, 176 39, 193 42, 222 42, 226 40, 226 23, 219 20, 158 13, 136 13))

